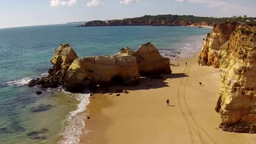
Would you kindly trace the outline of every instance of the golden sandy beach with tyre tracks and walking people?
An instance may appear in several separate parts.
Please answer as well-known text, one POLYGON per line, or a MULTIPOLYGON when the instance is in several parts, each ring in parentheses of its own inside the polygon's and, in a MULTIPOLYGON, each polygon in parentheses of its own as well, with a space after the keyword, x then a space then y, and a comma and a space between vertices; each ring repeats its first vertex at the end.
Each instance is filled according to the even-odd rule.
POLYGON ((85 119, 80 143, 256 143, 255 134, 218 128, 214 107, 220 73, 197 65, 197 55, 172 61, 179 67, 171 66, 172 74, 162 75, 164 79, 142 77, 139 86, 112 86, 105 94, 98 89, 90 98, 90 119, 85 119), (115 88, 130 93, 117 97, 115 88))

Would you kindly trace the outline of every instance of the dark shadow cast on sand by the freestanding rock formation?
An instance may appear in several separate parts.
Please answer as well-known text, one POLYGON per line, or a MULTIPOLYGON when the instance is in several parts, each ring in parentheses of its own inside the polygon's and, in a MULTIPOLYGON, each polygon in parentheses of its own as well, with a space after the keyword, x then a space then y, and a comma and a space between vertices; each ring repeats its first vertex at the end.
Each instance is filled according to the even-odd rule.
MULTIPOLYGON (((188 77, 188 75, 184 73, 177 74, 161 74, 158 76, 154 76, 157 79, 152 79, 153 76, 148 77, 140 77, 140 84, 137 86, 124 86, 124 85, 112 85, 108 88, 106 93, 114 93, 116 88, 125 89, 127 91, 136 91, 136 90, 148 90, 148 89, 156 89, 163 87, 170 87, 166 80, 178 79, 181 77, 188 77), (151 79, 150 79, 151 77, 151 79)), ((95 93, 102 93, 104 88, 98 88, 95 93)))

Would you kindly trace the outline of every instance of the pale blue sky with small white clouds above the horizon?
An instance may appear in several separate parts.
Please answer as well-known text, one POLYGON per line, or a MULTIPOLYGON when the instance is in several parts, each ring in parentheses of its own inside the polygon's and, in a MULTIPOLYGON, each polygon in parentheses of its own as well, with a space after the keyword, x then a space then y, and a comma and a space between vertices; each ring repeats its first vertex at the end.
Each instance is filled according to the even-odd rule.
POLYGON ((256 0, 1 0, 0 28, 158 14, 256 17, 256 0))

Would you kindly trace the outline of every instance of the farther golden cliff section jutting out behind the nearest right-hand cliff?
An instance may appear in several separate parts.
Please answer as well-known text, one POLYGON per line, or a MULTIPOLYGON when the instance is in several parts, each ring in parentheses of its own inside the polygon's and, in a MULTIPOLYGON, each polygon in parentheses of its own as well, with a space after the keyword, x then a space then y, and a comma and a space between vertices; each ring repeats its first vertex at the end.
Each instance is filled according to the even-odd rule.
POLYGON ((199 65, 219 68, 219 52, 222 46, 229 43, 230 35, 234 32, 236 23, 220 23, 213 26, 212 33, 208 33, 198 58, 199 65))

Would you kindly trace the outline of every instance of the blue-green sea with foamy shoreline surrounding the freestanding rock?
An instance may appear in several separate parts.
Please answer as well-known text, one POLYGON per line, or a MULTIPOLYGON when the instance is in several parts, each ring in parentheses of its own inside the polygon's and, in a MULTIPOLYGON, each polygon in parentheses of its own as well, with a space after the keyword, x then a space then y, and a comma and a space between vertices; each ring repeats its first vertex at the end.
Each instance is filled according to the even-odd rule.
POLYGON ((69 43, 79 57, 86 57, 114 55, 123 47, 136 50, 150 41, 162 56, 177 60, 199 52, 211 30, 67 24, 0 29, 0 143, 79 143, 90 94, 27 86, 30 80, 48 75, 50 59, 60 44, 69 43))

